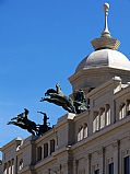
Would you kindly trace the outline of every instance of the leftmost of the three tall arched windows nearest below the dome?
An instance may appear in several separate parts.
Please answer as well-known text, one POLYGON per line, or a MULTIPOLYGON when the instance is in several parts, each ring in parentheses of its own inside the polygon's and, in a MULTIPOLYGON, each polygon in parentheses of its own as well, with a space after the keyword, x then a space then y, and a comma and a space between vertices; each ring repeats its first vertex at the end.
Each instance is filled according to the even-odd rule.
POLYGON ((99 114, 98 112, 94 112, 94 120, 93 120, 93 132, 99 129, 99 114))

